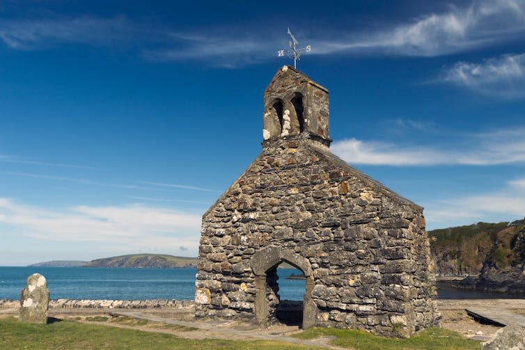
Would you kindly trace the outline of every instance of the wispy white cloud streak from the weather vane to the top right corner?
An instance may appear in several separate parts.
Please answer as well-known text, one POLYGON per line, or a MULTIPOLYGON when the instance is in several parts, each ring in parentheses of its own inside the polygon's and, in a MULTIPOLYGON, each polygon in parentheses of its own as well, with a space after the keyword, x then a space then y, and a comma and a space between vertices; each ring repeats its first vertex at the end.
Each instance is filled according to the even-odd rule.
POLYGON ((500 44, 525 35, 525 1, 473 1, 450 6, 411 23, 372 33, 338 33, 334 40, 311 40, 312 54, 383 53, 402 56, 437 56, 500 44))

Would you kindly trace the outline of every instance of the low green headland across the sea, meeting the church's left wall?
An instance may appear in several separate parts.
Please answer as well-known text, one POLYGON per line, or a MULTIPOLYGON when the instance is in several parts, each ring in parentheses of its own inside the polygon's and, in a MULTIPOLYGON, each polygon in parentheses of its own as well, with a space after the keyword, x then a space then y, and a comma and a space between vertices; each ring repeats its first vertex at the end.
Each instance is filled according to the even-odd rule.
POLYGON ((196 257, 176 257, 159 254, 132 254, 87 262, 84 267, 196 267, 196 257))

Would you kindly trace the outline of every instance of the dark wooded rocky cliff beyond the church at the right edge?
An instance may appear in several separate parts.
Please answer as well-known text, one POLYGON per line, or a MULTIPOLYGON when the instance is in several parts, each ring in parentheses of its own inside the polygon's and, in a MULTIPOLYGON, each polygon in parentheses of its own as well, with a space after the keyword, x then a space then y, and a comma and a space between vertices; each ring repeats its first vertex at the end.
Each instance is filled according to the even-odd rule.
POLYGON ((525 219, 433 230, 428 236, 439 275, 470 275, 463 287, 525 291, 525 219))

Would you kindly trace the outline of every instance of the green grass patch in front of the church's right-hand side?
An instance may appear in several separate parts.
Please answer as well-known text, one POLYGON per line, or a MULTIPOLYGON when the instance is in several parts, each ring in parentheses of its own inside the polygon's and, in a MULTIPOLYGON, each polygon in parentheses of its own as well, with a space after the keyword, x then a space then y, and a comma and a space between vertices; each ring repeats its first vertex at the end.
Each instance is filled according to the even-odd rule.
POLYGON ((294 336, 300 339, 335 337, 330 344, 338 347, 352 347, 356 350, 478 350, 480 348, 480 342, 465 339, 459 333, 444 328, 430 328, 408 339, 379 337, 364 331, 335 328, 310 328, 294 336))

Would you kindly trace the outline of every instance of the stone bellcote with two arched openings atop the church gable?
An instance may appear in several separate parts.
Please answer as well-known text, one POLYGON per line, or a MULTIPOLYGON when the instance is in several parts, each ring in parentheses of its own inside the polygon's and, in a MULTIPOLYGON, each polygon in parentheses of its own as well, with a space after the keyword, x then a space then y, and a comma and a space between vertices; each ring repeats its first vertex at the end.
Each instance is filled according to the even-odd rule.
POLYGON ((285 65, 265 90, 263 138, 266 141, 301 136, 328 147, 328 90, 285 65))

